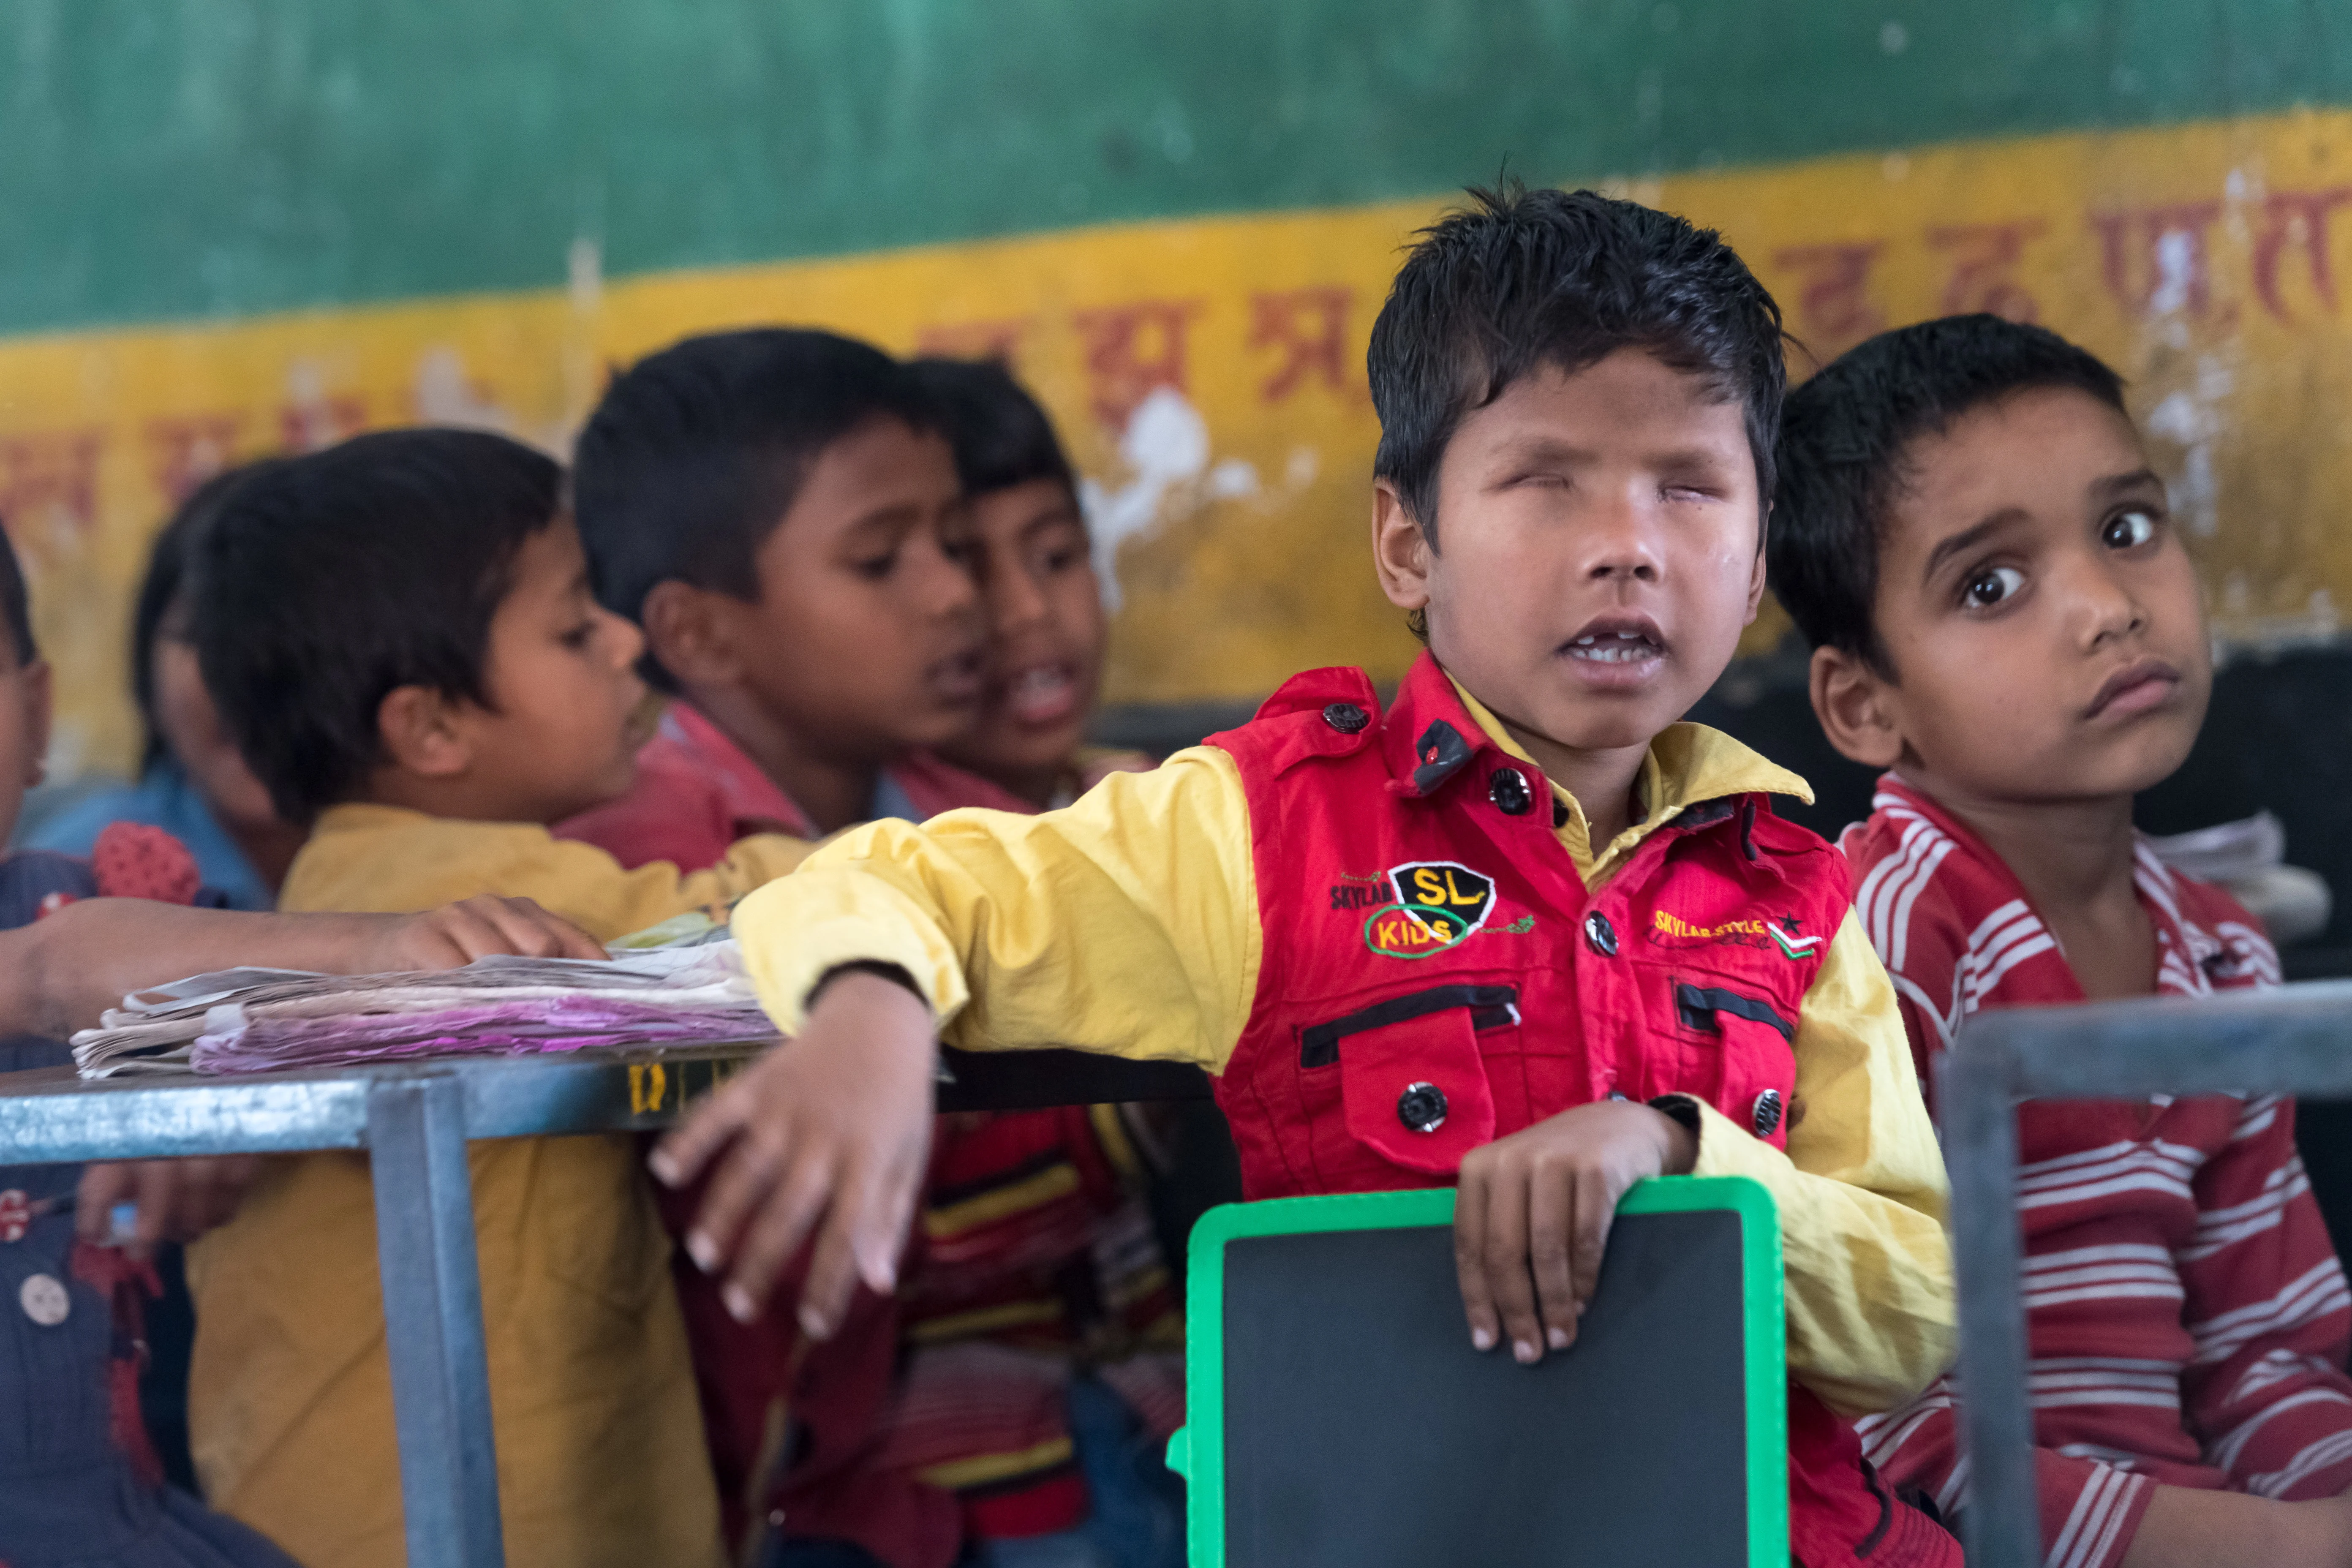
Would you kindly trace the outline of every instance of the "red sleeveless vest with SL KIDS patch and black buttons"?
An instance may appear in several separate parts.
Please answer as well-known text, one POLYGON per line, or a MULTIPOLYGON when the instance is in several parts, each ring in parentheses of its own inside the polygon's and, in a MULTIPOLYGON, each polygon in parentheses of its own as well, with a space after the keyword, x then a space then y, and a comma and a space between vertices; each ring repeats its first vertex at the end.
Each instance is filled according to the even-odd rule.
MULTIPOLYGON (((1684 806, 1588 893, 1552 790, 1435 661, 1385 717, 1312 670, 1214 736, 1249 799, 1263 964, 1216 1093, 1251 1199, 1449 1185, 1573 1105, 1682 1093, 1785 1147, 1804 994, 1844 858, 1762 795, 1684 806)), ((1790 1385, 1802 1563, 1959 1563, 1790 1385)))

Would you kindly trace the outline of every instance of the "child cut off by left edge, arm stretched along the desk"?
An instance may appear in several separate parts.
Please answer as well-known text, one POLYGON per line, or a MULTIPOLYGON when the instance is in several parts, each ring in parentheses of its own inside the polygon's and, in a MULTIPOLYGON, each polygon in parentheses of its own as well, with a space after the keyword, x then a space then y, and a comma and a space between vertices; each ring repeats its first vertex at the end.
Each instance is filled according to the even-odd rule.
MULTIPOLYGON (((49 668, 0 531, 0 842, 49 741, 49 668)), ((61 1039, 129 990, 235 964, 440 969, 480 952, 597 952, 522 903, 386 922, 245 914, 198 884, 188 849, 115 823, 89 858, 0 858, 0 1072, 71 1067, 61 1039), (212 907, 188 907, 191 900, 212 907)), ((158 1288, 148 1246, 235 1211, 261 1161, 0 1164, 0 1561, 12 1568, 294 1568, 252 1528, 165 1481, 139 1382, 158 1288), (129 1225, 118 1208, 129 1206, 129 1225)))

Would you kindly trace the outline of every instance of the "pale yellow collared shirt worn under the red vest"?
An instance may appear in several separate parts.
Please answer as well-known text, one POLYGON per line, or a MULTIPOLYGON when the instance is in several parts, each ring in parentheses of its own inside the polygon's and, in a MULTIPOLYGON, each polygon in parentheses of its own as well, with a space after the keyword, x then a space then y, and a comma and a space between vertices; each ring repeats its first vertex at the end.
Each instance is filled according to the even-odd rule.
MULTIPOLYGON (((1458 691, 1458 686, 1456 686, 1458 691)), ((1486 736, 1526 752, 1461 693, 1486 736)), ((1581 804, 1559 842, 1606 882, 1684 804, 1804 780, 1729 736, 1675 724, 1642 769, 1644 818, 1592 853, 1581 804)), ((837 964, 906 969, 964 1048, 1077 1046, 1221 1072, 1249 1020, 1263 933, 1232 757, 1195 748, 1063 811, 873 823, 736 910, 760 997, 786 1032, 837 964)), ((1945 1175, 1893 987, 1853 914, 1797 1020, 1788 1152, 1700 1105, 1700 1175, 1752 1175, 1780 1208, 1790 1371, 1844 1413, 1886 1410, 1952 1359, 1945 1175)))

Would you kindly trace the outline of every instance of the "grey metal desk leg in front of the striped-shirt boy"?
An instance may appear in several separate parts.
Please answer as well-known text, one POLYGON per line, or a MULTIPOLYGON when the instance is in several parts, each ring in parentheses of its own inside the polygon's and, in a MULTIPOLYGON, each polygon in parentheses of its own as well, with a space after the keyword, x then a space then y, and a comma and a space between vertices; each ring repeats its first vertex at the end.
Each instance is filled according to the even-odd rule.
POLYGON ((2025 1392, 2025 1241, 2018 1234, 2018 1095, 2006 1051, 1938 1063, 1959 1274, 1959 1436, 1969 1465, 1969 1568, 2034 1568, 2042 1507, 2025 1392))

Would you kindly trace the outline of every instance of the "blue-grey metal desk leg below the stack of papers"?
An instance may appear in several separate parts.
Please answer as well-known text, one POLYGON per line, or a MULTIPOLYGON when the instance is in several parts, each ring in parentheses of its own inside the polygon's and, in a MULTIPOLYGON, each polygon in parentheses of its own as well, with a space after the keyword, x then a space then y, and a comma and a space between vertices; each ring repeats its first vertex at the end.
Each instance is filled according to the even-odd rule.
POLYGON ((374 1084, 367 1091, 367 1157, 376 1185, 376 1267, 409 1561, 419 1568, 503 1568, 459 1079, 374 1084))

